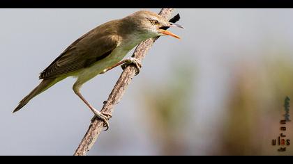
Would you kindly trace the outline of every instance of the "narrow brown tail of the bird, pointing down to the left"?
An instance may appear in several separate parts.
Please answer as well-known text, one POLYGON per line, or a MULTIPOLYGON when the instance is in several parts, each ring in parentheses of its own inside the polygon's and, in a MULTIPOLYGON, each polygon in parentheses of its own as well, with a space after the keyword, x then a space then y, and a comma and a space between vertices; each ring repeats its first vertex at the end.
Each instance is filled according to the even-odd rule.
POLYGON ((56 81, 56 79, 44 79, 43 81, 41 81, 40 84, 29 93, 29 95, 27 95, 26 97, 24 97, 24 99, 22 99, 22 101, 20 101, 18 106, 15 108, 15 110, 13 110, 13 113, 15 113, 18 110, 20 110, 31 99, 33 99, 33 97, 36 97, 41 92, 44 92, 45 90, 47 90, 48 88, 50 88, 52 85, 54 85, 57 82, 58 81, 56 81))

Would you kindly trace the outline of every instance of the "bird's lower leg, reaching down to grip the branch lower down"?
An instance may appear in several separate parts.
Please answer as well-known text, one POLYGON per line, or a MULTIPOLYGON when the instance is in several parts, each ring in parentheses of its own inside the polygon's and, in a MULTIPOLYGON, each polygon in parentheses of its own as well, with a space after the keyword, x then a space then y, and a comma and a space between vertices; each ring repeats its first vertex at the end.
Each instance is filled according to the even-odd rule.
MULTIPOLYGON (((93 108, 93 106, 91 106, 91 104, 89 104, 89 102, 87 101, 87 99, 84 99, 84 97, 82 96, 82 94, 80 93, 80 89, 79 87, 76 87, 75 85, 73 85, 73 90, 75 92, 75 94, 80 97, 80 99, 82 99, 82 101, 84 101, 85 104, 87 104, 87 106, 89 106, 89 108, 91 109, 91 111, 93 112, 93 114, 95 114, 95 117, 98 117, 100 120, 102 120, 104 122, 104 127, 106 127, 107 129, 109 129, 109 118, 112 117, 112 115, 107 114, 107 113, 101 113, 98 110, 96 110, 95 108, 93 108)), ((105 131, 107 131, 107 129, 105 131)))

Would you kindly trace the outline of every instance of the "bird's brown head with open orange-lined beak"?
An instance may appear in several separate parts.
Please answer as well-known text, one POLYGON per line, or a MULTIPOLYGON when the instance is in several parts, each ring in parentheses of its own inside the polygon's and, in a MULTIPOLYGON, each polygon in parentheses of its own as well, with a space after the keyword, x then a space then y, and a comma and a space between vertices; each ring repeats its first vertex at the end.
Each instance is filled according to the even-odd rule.
POLYGON ((183 26, 179 24, 168 22, 166 19, 163 19, 163 17, 160 17, 160 15, 157 15, 156 13, 145 10, 137 11, 136 13, 133 13, 124 19, 127 20, 126 22, 128 22, 128 26, 131 31, 138 35, 144 35, 145 38, 170 35, 174 38, 180 39, 179 36, 171 33, 170 31, 167 31, 166 28, 171 26, 183 28, 183 26))

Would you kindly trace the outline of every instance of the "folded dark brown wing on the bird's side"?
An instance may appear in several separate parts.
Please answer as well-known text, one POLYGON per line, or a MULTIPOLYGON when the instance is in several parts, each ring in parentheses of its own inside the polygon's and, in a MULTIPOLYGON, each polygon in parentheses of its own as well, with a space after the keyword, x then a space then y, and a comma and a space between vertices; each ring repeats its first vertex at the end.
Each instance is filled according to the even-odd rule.
MULTIPOLYGON (((103 27, 103 26, 102 26, 103 27)), ((107 26, 104 26, 107 28, 107 26)), ((40 79, 51 79, 70 74, 84 67, 89 67, 101 60, 119 45, 120 38, 114 33, 107 32, 103 28, 94 28, 71 44, 56 58, 43 72, 40 79)))

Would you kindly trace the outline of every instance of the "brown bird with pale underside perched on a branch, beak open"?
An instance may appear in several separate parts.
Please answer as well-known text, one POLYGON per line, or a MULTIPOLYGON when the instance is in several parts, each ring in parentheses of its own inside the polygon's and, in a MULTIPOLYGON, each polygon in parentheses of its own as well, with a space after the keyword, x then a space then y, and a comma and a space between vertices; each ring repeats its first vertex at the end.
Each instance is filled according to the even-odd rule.
POLYGON ((96 117, 103 120, 104 126, 108 127, 107 121, 111 115, 101 113, 89 104, 80 92, 82 85, 98 74, 104 74, 119 65, 134 64, 138 74, 142 67, 140 61, 133 57, 123 58, 137 44, 149 38, 170 35, 180 39, 178 35, 165 30, 171 26, 183 28, 179 24, 168 22, 156 13, 140 10, 93 28, 70 44, 43 72, 40 72, 39 85, 20 101, 13 113, 54 84, 73 76, 77 79, 73 84, 75 94, 96 117))

